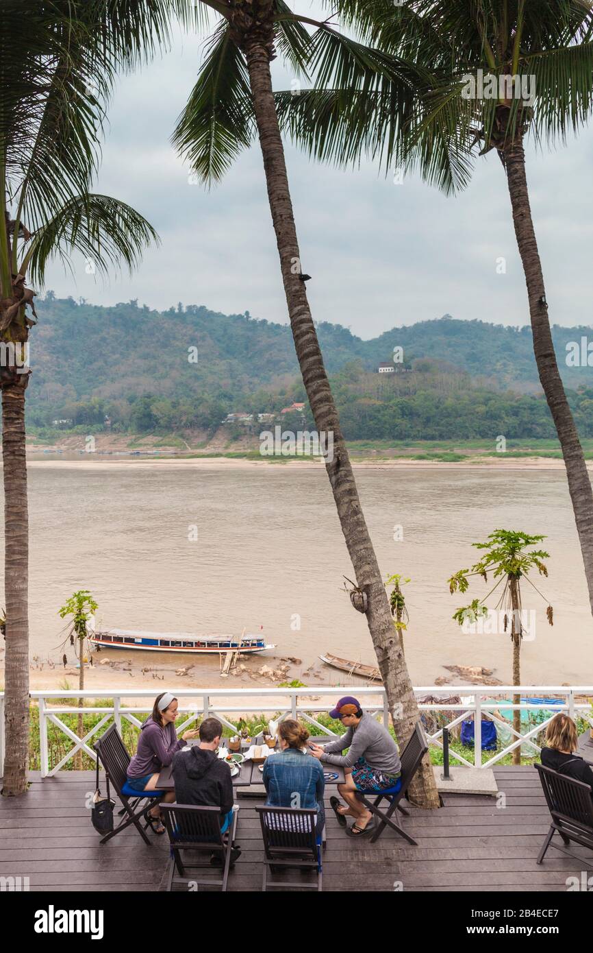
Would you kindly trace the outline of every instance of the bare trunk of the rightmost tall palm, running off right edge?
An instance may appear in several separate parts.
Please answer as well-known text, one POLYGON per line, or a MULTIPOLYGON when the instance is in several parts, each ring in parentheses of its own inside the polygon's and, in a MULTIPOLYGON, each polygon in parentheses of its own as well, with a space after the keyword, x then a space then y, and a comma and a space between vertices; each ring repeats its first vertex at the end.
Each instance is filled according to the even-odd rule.
POLYGON ((583 448, 564 394, 563 382, 552 343, 552 333, 545 303, 544 274, 533 229, 523 142, 518 139, 504 147, 506 180, 513 210, 513 222, 519 253, 523 262, 529 315, 533 331, 533 350, 540 381, 558 439, 563 451, 568 492, 572 500, 577 532, 583 554, 584 575, 593 613, 593 491, 584 462, 583 448))

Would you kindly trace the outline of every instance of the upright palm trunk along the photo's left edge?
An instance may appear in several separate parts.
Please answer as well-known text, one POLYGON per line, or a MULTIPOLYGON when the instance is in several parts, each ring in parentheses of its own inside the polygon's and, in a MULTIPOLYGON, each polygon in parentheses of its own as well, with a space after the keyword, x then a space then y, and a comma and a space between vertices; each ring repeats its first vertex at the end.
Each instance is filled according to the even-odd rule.
POLYGON ((5 723, 6 755, 2 793, 27 790, 29 762, 29 510, 25 462, 25 387, 2 391, 5 526, 5 723))

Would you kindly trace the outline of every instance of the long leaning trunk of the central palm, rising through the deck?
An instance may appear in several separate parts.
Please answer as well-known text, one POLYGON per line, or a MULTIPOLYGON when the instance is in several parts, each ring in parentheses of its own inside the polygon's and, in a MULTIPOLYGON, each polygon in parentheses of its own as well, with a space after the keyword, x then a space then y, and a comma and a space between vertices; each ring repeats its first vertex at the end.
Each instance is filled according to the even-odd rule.
MULTIPOLYGON (((327 476, 357 584, 366 592, 368 630, 377 654, 395 732, 402 745, 410 737, 420 715, 405 667, 400 639, 389 612, 385 585, 366 528, 306 299, 305 282, 300 277, 304 269, 301 266, 285 154, 269 71, 271 41, 266 42, 260 31, 260 35, 253 39, 247 37, 242 46, 247 57, 255 117, 264 157, 267 195, 280 255, 294 346, 317 431, 320 437, 322 434, 333 435, 333 458, 326 459, 327 476)), ((410 793, 416 800, 422 801, 425 807, 439 806, 434 774, 427 756, 410 793)))

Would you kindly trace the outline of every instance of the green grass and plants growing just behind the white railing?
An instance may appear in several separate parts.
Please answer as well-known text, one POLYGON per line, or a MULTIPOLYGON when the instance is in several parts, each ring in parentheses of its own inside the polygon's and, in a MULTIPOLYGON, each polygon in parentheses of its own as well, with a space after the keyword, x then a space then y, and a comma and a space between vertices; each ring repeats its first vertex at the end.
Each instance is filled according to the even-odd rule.
MULTIPOLYGON (((56 707, 70 707, 72 705, 72 700, 71 699, 62 699, 62 700, 56 699, 56 700, 53 700, 53 703, 55 704, 56 707)), ((109 707, 109 704, 110 704, 109 698, 96 699, 92 702, 91 705, 89 704, 88 700, 85 701, 86 707, 106 708, 106 707, 109 707)), ((150 708, 147 708, 146 710, 147 718, 150 713, 150 710, 151 710, 150 708)), ((143 713, 140 712, 140 714, 143 714, 143 713)), ((273 719, 274 720, 278 719, 280 714, 281 714, 280 712, 277 712, 276 715, 273 716, 273 719)), ((340 733, 341 731, 340 722, 330 719, 329 715, 327 715, 326 712, 316 713, 311 711, 311 712, 308 712, 307 714, 314 716, 315 720, 319 721, 319 723, 324 725, 324 727, 331 729, 337 734, 340 733)), ((84 725, 83 730, 84 730, 85 736, 89 733, 89 731, 92 730, 92 728, 95 727, 95 725, 99 723, 102 717, 103 717, 102 715, 93 714, 92 712, 87 712, 87 714, 83 716, 83 725, 84 725)), ((77 726, 78 726, 78 712, 72 713, 71 715, 60 715, 59 718, 60 720, 64 722, 65 725, 69 727, 70 731, 76 734, 77 726)), ((267 724, 267 721, 270 720, 270 718, 271 716, 262 714, 259 716, 253 715, 250 717, 245 717, 244 719, 242 719, 242 721, 244 722, 244 724, 247 725, 247 728, 250 733, 256 734, 258 731, 262 730, 262 727, 265 724, 267 724)), ((201 721, 202 721, 202 718, 199 718, 198 720, 196 720, 195 723, 199 725, 201 721)), ((588 727, 590 727, 586 720, 577 719, 576 721, 577 721, 577 731, 579 734, 582 734, 583 731, 585 731, 588 727)), ((109 720, 105 724, 103 731, 107 731, 111 723, 112 723, 112 720, 109 720)), ((536 722, 534 721, 531 727, 534 727, 535 724, 536 722)), ((237 725, 235 726, 237 727, 237 725)), ((311 729, 314 730, 313 725, 311 725, 310 727, 311 729)), ((389 726, 389 732, 393 736, 393 738, 395 738, 395 733, 393 731, 392 726, 389 726)), ((101 732, 101 734, 102 733, 103 732, 101 732)), ((122 720, 122 738, 124 740, 124 744, 126 745, 130 753, 133 753, 136 750, 138 734, 139 734, 139 729, 136 728, 135 725, 132 725, 128 720, 125 720, 125 719, 122 720)), ((93 741, 97 740, 98 737, 100 736, 99 735, 97 735, 96 737, 93 736, 89 740, 89 745, 92 745, 93 741)), ((315 737, 315 736, 312 736, 312 737, 315 737)), ((323 737, 323 736, 320 734, 317 737, 323 737)), ((543 738, 536 737, 534 740, 536 741, 536 743, 539 743, 540 746, 543 743, 543 738)), ((73 743, 64 734, 61 728, 59 728, 58 725, 54 724, 52 721, 48 721, 49 770, 55 767, 56 764, 59 764, 59 762, 66 757, 66 755, 71 750, 72 746, 73 746, 73 743)), ((30 703, 30 756, 29 756, 30 771, 39 771, 41 769, 40 750, 41 749, 40 749, 40 734, 39 734, 39 708, 35 702, 31 702, 30 703)), ((500 751, 500 750, 502 750, 502 746, 499 743, 496 751, 500 751)), ((451 759, 450 759, 451 765, 453 766, 455 764, 461 763, 460 761, 456 760, 453 757, 455 752, 462 754, 465 757, 465 760, 473 759, 473 748, 462 745, 461 741, 458 739, 451 738, 449 740, 449 751, 451 755, 451 759)), ((489 759, 495 754, 495 752, 488 751, 488 752, 485 752, 484 754, 489 759)), ((433 764, 443 764, 442 749, 436 745, 431 745, 430 760, 433 764)), ((536 755, 534 755, 533 758, 527 758, 524 755, 522 755, 521 762, 522 764, 533 764, 535 760, 539 760, 536 755)), ((497 764, 499 765, 512 764, 512 754, 505 755, 502 760, 497 761, 497 764)), ((89 771, 93 768, 94 768, 94 761, 89 758, 89 755, 86 752, 83 752, 82 764, 80 769, 84 771, 89 771)), ((66 764, 63 765, 61 770, 62 771, 76 770, 76 768, 74 767, 73 760, 70 759, 69 761, 67 761, 66 764)))

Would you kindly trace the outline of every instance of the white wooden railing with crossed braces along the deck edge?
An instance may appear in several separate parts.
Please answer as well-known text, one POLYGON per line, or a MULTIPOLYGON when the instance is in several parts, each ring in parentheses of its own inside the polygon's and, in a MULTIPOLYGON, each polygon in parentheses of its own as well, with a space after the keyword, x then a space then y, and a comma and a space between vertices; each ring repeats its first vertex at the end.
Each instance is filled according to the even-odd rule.
MULTIPOLYGON (((235 725, 229 720, 232 715, 246 716, 248 714, 257 715, 276 715, 281 718, 300 718, 313 725, 318 731, 329 737, 337 737, 329 728, 322 725, 315 719, 314 714, 320 712, 329 712, 335 701, 344 695, 346 687, 326 687, 315 686, 312 688, 193 688, 193 689, 175 689, 176 697, 180 700, 179 713, 182 720, 176 724, 178 732, 185 731, 193 721, 199 718, 208 718, 215 715, 223 724, 231 730, 235 730, 235 725), (188 700, 197 700, 189 702, 188 700), (246 700, 256 700, 247 703, 246 700), (236 702, 240 701, 240 704, 236 702)), ((350 691, 355 692, 360 698, 363 707, 367 712, 380 713, 385 726, 389 721, 389 711, 385 696, 385 689, 382 687, 360 687, 351 686, 350 691)), ((442 738, 445 728, 449 730, 456 725, 461 724, 465 719, 473 717, 474 721, 474 760, 473 763, 457 751, 449 747, 449 756, 451 760, 457 760, 466 767, 488 768, 497 761, 502 760, 505 755, 514 751, 519 745, 526 745, 533 756, 539 754, 540 747, 536 744, 535 738, 545 728, 548 722, 559 711, 565 711, 571 718, 581 717, 587 720, 593 727, 593 709, 589 700, 593 700, 593 686, 591 685, 497 685, 496 687, 483 688, 482 686, 459 686, 446 685, 436 686, 428 685, 414 689, 417 698, 423 698, 430 695, 441 698, 451 698, 459 696, 462 701, 458 704, 449 704, 448 702, 431 702, 429 704, 420 704, 421 712, 450 712, 454 717, 446 721, 437 731, 426 732, 426 738, 429 743, 436 747, 443 747, 442 738), (514 695, 523 698, 544 698, 551 699, 558 696, 554 704, 539 704, 533 701, 523 701, 515 705, 510 699, 514 695), (498 701, 496 699, 499 699, 498 701), (503 700, 503 701, 501 701, 503 700), (516 732, 513 725, 508 720, 495 714, 497 710, 515 711, 519 709, 524 712, 549 712, 547 717, 537 725, 522 727, 521 732, 516 732), (459 714, 458 714, 459 713, 459 714), (499 727, 510 733, 514 740, 511 740, 502 750, 497 751, 489 760, 482 760, 482 719, 494 721, 499 727)), ((109 720, 113 719, 121 732, 122 721, 127 720, 130 724, 140 728, 142 720, 138 717, 146 714, 152 709, 152 700, 155 697, 154 689, 119 689, 116 692, 98 691, 96 688, 84 692, 80 691, 42 691, 31 692, 31 700, 37 701, 39 707, 39 737, 40 737, 40 761, 42 777, 47 778, 56 774, 73 756, 80 750, 85 751, 92 760, 95 760, 95 754, 90 747, 91 740, 96 740, 102 734, 109 720), (106 698, 112 700, 111 704, 85 706, 84 709, 74 707, 74 702, 78 699, 97 699, 106 698), (72 706, 64 704, 65 700, 71 699, 72 706), (148 703, 131 706, 124 704, 123 700, 147 700, 148 703), (80 739, 61 720, 62 715, 100 715, 101 718, 97 724, 80 739), (72 747, 65 757, 49 767, 49 746, 48 746, 48 726, 54 724, 66 735, 72 742, 72 747)), ((4 764, 4 692, 0 692, 0 777, 4 764)))

